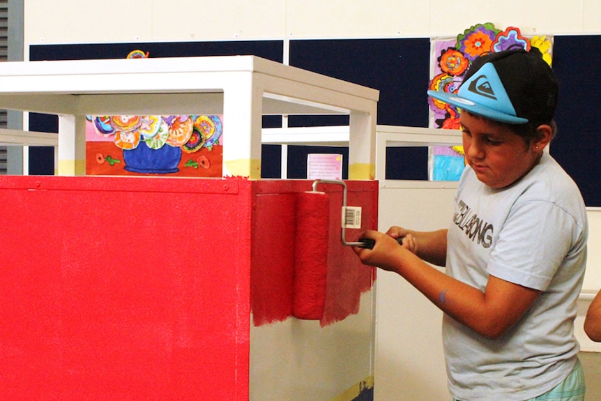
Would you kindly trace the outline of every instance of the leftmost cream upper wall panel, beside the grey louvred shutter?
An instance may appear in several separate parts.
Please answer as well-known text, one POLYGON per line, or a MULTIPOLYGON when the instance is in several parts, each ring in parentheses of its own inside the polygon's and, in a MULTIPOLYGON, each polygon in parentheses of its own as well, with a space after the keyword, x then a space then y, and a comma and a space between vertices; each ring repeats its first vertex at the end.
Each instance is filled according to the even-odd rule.
POLYGON ((148 0, 27 0, 24 43, 149 41, 152 4, 148 0))

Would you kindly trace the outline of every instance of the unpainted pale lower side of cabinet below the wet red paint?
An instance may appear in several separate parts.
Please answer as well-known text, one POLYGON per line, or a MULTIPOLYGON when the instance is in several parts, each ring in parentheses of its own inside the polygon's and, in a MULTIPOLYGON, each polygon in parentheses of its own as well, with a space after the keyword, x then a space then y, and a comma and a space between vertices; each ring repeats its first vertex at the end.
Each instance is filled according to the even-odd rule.
POLYGON ((251 401, 329 401, 373 374, 373 292, 357 315, 321 327, 291 317, 250 328, 251 401))

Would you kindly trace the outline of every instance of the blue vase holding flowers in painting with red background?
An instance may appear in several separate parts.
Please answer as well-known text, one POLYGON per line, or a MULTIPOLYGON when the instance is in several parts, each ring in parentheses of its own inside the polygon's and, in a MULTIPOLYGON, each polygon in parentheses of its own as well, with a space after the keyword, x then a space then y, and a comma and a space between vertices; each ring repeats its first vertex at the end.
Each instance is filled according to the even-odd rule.
POLYGON ((123 161, 128 172, 143 174, 168 174, 179 171, 181 148, 178 146, 162 146, 151 149, 141 143, 135 149, 123 149, 123 161))

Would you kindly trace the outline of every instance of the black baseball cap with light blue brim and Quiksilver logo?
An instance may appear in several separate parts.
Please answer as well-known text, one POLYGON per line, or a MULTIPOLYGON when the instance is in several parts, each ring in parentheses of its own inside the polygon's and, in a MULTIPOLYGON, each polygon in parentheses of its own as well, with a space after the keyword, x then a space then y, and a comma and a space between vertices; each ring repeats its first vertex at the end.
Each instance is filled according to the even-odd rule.
POLYGON ((482 54, 471 64, 457 93, 427 91, 432 98, 488 119, 510 124, 549 123, 559 85, 533 48, 482 54))

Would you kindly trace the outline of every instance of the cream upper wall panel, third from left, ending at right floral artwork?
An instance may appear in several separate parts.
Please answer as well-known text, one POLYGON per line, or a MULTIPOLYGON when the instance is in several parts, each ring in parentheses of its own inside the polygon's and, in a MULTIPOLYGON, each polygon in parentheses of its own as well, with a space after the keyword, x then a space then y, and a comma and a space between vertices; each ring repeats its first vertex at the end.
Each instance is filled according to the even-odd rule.
POLYGON ((425 1, 288 0, 288 38, 427 37, 425 1))

